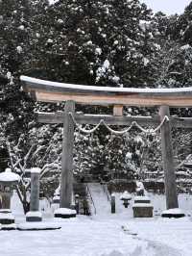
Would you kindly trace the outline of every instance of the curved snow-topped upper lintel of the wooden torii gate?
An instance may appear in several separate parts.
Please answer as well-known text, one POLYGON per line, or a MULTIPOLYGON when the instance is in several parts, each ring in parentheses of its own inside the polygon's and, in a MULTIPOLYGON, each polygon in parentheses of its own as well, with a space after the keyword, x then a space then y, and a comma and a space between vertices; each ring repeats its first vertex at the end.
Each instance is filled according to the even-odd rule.
POLYGON ((23 89, 37 101, 74 100, 87 105, 129 105, 191 107, 192 87, 177 89, 137 89, 64 84, 21 76, 23 89))

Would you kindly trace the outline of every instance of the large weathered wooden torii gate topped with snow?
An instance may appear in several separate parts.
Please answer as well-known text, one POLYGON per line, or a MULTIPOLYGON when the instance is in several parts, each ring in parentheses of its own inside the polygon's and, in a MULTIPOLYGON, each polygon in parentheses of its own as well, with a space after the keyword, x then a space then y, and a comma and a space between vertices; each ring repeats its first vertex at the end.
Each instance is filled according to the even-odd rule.
POLYGON ((73 183, 74 121, 79 124, 98 124, 101 119, 108 125, 159 125, 161 130, 162 160, 165 178, 167 209, 178 208, 178 194, 174 169, 171 127, 192 128, 191 117, 170 116, 169 108, 192 107, 192 88, 133 89, 72 85, 21 76, 23 90, 36 101, 66 102, 64 112, 38 113, 41 123, 63 123, 60 208, 70 208, 73 183), (75 113, 75 103, 113 106, 113 115, 83 115, 75 113), (123 106, 159 107, 159 115, 125 116, 123 106), (165 117, 166 122, 163 122, 165 117))

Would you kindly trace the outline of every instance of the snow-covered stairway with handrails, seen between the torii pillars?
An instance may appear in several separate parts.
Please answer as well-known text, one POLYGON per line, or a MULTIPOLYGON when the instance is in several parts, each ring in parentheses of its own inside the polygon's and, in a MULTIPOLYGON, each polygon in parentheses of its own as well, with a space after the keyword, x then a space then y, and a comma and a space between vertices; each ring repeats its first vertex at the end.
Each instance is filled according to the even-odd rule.
MULTIPOLYGON (((95 204, 96 214, 108 215, 110 213, 110 203, 108 202, 107 193, 104 192, 102 185, 100 183, 88 183, 87 186, 95 204)), ((91 212, 94 213, 93 208, 91 212)))

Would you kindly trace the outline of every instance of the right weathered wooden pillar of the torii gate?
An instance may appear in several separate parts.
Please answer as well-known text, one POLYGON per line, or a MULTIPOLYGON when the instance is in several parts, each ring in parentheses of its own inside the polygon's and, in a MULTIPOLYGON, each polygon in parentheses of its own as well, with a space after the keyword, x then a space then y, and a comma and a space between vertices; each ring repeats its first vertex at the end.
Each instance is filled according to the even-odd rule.
MULTIPOLYGON (((169 107, 161 106, 159 110, 160 120, 165 115, 170 116, 169 107)), ((176 185, 176 174, 174 170, 174 158, 172 148, 171 125, 167 121, 161 126, 161 148, 165 180, 165 194, 167 209, 178 208, 178 194, 176 185)))

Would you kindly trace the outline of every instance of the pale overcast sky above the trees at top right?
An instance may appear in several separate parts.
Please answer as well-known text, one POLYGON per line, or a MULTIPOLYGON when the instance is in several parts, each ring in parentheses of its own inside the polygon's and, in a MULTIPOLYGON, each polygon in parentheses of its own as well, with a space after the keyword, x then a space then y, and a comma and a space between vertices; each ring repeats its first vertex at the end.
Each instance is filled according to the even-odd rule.
POLYGON ((167 14, 183 13, 184 8, 192 0, 141 0, 154 12, 162 11, 167 14))

